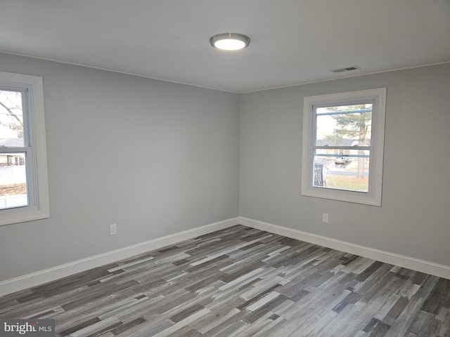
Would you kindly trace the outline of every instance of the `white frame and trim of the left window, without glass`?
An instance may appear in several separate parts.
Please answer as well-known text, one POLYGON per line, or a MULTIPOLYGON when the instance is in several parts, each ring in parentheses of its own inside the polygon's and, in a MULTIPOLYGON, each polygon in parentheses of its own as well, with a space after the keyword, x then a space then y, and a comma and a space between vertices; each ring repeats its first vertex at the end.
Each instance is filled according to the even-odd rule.
MULTIPOLYGON (((28 206, 0 210, 0 225, 49 218, 49 183, 47 176, 44 86, 42 77, 0 72, 0 88, 27 91, 24 114, 27 114, 28 144, 7 148, 26 152, 28 206)), ((25 115, 24 115, 25 119, 25 115)))

